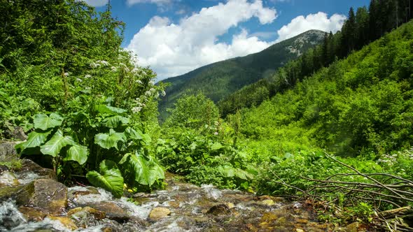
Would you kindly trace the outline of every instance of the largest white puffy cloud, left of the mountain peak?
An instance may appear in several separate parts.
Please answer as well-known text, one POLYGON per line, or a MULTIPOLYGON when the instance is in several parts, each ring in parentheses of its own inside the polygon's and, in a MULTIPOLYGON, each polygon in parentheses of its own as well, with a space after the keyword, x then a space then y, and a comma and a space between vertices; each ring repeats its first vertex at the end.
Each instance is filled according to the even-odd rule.
POLYGON ((139 64, 151 66, 158 73, 158 79, 180 75, 212 62, 259 52, 271 45, 257 36, 248 36, 244 29, 232 37, 231 43, 218 42, 218 36, 252 17, 257 17, 261 24, 271 23, 276 18, 276 10, 263 7, 261 0, 228 0, 202 8, 178 24, 167 17, 155 16, 134 35, 127 49, 137 53, 139 64))

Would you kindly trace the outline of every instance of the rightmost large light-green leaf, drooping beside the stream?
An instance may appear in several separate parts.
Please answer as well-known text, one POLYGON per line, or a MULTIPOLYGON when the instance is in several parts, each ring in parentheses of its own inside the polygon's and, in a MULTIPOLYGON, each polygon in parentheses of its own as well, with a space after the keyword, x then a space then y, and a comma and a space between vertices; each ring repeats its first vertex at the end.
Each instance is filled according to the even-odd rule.
POLYGON ((119 164, 127 164, 134 171, 134 179, 139 184, 151 186, 156 180, 165 179, 163 169, 141 154, 128 153, 123 156, 119 164))

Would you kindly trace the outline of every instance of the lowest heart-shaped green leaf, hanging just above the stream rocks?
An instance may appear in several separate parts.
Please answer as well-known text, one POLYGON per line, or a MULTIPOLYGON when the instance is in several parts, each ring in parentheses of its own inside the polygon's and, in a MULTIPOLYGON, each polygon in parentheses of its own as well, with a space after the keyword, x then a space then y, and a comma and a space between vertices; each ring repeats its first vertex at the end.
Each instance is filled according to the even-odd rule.
POLYGON ((123 194, 123 177, 115 162, 105 159, 99 165, 99 172, 88 172, 87 180, 94 186, 109 190, 113 196, 120 198, 123 194))

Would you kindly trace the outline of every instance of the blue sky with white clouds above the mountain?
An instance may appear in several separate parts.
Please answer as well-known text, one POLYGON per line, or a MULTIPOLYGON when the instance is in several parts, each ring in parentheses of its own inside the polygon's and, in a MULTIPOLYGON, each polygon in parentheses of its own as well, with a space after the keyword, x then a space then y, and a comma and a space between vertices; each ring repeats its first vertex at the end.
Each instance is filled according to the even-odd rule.
MULTIPOLYGON (((83 0, 106 10, 109 0, 83 0)), ((333 33, 370 0, 110 0, 126 23, 123 48, 157 80, 260 52, 309 29, 333 33)))

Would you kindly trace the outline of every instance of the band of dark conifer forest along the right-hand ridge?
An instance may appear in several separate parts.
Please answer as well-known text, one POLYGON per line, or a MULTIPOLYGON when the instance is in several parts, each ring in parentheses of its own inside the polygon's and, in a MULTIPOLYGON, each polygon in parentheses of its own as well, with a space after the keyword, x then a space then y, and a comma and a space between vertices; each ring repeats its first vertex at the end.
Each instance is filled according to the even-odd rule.
POLYGON ((222 99, 218 106, 221 115, 235 113, 241 108, 258 106, 278 92, 293 87, 297 81, 321 67, 342 59, 353 50, 363 48, 391 29, 407 22, 411 17, 411 1, 371 1, 370 6, 349 10, 342 31, 325 34, 323 43, 310 49, 297 60, 279 68, 274 75, 246 86, 222 99))

